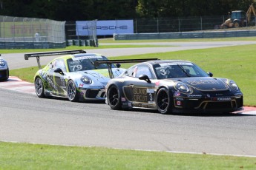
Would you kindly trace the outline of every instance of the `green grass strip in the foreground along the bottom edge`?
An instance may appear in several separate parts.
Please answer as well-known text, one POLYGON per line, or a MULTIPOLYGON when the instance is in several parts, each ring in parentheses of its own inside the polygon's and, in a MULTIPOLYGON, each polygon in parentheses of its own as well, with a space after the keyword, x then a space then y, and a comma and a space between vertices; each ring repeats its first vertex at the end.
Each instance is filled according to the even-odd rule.
POLYGON ((0 142, 0 169, 256 169, 256 158, 0 142))

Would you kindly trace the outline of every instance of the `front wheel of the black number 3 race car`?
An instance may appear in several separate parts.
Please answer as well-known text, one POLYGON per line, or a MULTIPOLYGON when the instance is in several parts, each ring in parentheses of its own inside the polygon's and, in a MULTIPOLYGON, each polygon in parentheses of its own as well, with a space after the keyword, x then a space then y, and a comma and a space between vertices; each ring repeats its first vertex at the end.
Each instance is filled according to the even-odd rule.
POLYGON ((171 112, 171 99, 168 89, 161 88, 157 92, 157 110, 163 115, 171 112))

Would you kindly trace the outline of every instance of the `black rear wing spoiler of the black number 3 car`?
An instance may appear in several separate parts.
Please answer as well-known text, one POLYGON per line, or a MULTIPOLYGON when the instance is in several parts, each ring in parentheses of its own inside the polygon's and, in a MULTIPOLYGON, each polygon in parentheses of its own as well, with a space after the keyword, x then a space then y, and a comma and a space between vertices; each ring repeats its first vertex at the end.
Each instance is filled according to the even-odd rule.
POLYGON ((110 78, 114 78, 112 72, 112 64, 120 64, 120 63, 140 63, 146 61, 155 61, 159 60, 158 58, 149 58, 149 59, 127 59, 127 60, 108 60, 108 61, 94 61, 93 64, 95 67, 99 67, 99 64, 107 64, 108 65, 108 73, 110 78))

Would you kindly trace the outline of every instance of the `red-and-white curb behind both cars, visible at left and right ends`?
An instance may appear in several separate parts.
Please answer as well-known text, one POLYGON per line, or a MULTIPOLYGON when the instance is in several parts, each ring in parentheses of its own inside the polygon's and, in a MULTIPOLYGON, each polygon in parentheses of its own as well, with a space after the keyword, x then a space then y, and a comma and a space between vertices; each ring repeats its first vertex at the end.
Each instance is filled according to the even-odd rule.
MULTIPOLYGON (((34 84, 27 81, 22 81, 21 79, 14 76, 10 76, 7 81, 1 81, 0 88, 12 89, 15 91, 27 92, 36 95, 34 84)), ((233 112, 233 114, 256 115, 256 107, 244 106, 243 110, 233 112)))

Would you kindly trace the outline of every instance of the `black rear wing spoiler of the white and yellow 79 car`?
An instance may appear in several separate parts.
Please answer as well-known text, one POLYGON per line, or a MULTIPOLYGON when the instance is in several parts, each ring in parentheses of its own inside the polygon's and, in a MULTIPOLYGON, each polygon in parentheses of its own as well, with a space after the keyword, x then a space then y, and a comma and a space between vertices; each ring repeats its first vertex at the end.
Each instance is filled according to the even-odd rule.
POLYGON ((49 56, 49 55, 65 55, 65 54, 80 54, 80 53, 86 53, 85 50, 68 50, 68 51, 56 51, 56 52, 41 52, 41 53, 30 53, 25 54, 24 59, 28 60, 28 58, 36 57, 37 64, 39 66, 39 69, 42 69, 40 64, 40 57, 42 56, 49 56))

